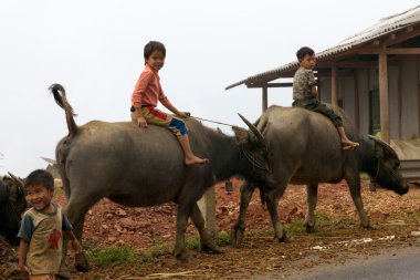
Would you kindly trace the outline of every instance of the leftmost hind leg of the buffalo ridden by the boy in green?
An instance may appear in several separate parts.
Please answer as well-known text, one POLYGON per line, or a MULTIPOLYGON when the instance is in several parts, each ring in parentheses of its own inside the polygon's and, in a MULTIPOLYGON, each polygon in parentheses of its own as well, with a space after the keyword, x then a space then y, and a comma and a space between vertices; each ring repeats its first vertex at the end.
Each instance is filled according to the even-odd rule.
POLYGON ((249 183, 244 183, 244 185, 242 185, 241 187, 241 203, 239 208, 239 217, 237 225, 232 228, 230 232, 230 242, 233 246, 240 245, 243 240, 243 232, 245 231, 245 214, 254 190, 255 186, 249 183))

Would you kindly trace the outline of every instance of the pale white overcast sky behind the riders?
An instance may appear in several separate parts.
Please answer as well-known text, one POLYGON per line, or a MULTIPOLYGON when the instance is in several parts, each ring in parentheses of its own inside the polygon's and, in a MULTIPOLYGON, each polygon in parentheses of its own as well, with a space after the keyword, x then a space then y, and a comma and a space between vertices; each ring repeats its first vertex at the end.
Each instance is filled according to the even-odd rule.
MULTIPOLYGON (((0 0, 0 174, 25 177, 54 158, 67 134, 46 89, 61 83, 76 123, 129 120, 143 48, 165 43, 165 93, 195 116, 244 126, 261 90, 224 87, 321 52, 414 8, 418 0, 0 0), (2 155, 3 156, 2 156, 2 155)), ((270 90, 269 105, 291 105, 291 89, 270 90)), ((161 107, 161 106, 160 106, 161 107)), ((206 123, 210 127, 213 124, 206 123)), ((231 134, 229 127, 221 127, 231 134)))

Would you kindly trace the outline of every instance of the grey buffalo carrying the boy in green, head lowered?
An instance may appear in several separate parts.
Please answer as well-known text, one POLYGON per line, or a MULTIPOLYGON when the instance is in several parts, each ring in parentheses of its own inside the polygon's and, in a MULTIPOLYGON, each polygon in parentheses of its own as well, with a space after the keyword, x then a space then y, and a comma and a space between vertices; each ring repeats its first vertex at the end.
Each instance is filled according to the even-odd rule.
MULTIPOLYGON (((334 184, 345 179, 365 228, 371 225, 360 197, 360 172, 369 174, 378 185, 399 195, 409 190, 398 172, 400 162, 393 149, 376 137, 358 135, 343 111, 337 108, 337 112, 344 118, 349 138, 360 143, 358 148, 343 151, 333 123, 318 113, 303 108, 271 106, 255 124, 244 120, 253 135, 242 138, 241 148, 260 154, 260 158, 265 158, 271 167, 270 172, 260 170, 260 176, 270 177, 274 183, 270 191, 262 191, 262 199, 266 203, 275 238, 280 241, 286 240, 286 234, 279 218, 277 205, 288 183, 306 185, 305 226, 308 232, 314 231, 315 227, 314 210, 319 183, 334 184)), ((250 184, 241 189, 239 219, 231 232, 233 245, 240 243, 243 238, 245 211, 254 188, 250 184)))

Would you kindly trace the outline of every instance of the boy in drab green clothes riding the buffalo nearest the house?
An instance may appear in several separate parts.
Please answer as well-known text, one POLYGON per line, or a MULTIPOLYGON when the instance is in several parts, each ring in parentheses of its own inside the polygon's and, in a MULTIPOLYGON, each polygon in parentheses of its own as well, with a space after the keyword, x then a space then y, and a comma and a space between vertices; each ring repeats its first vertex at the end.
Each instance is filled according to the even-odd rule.
POLYGON ((337 127, 342 138, 343 149, 354 148, 359 146, 357 142, 351 142, 347 138, 343 127, 342 117, 333 110, 321 103, 317 98, 316 81, 314 72, 315 52, 308 46, 303 46, 296 52, 297 60, 301 64, 293 77, 293 104, 292 106, 303 107, 317 113, 321 113, 332 120, 337 127))

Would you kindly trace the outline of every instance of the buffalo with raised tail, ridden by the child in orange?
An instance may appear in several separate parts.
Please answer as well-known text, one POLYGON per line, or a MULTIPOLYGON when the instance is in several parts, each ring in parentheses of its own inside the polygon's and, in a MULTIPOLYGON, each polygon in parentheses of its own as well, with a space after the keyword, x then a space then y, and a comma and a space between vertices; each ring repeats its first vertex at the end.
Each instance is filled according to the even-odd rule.
MULTIPOLYGON (((67 198, 66 212, 78 238, 86 211, 104 197, 129 207, 174 201, 178 205, 176 258, 185 260, 188 255, 185 232, 189 217, 200 235, 201 249, 219 251, 204 229, 197 200, 217 182, 240 172, 242 157, 234 136, 186 120, 192 149, 210 159, 186 166, 182 149, 168 129, 139 128, 130 122, 92 121, 77 126, 63 86, 53 84, 50 90, 66 116, 69 135, 59 142, 55 157, 67 198)), ((76 261, 80 270, 88 268, 85 260, 76 261)))

